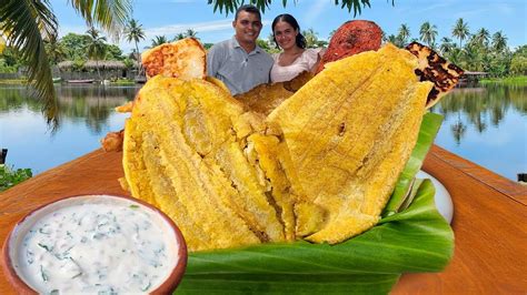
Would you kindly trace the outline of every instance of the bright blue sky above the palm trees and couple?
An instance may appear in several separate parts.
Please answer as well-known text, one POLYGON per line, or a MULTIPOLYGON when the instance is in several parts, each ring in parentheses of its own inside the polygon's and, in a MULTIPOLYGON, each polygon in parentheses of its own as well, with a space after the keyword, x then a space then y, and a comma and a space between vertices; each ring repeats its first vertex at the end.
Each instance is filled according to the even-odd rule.
MULTIPOLYGON (((463 18, 470 32, 480 28, 491 34, 503 31, 510 48, 527 43, 527 1, 508 0, 371 0, 371 8, 365 8, 360 16, 354 18, 352 12, 335 6, 335 0, 288 0, 286 8, 281 0, 274 0, 274 4, 262 16, 264 29, 260 38, 267 39, 270 33, 272 19, 280 13, 295 16, 301 30, 312 28, 319 39, 327 40, 329 33, 345 21, 365 19, 377 22, 387 33, 397 33, 401 23, 410 27, 412 38, 418 38, 419 27, 425 21, 437 26, 438 38, 451 37, 451 29, 457 19, 463 18)), ((51 0, 51 7, 59 19, 60 35, 67 32, 82 33, 86 24, 77 16, 67 0, 51 0)), ((166 35, 171 39, 179 32, 193 29, 202 42, 215 43, 229 39, 233 34, 231 27, 232 14, 213 12, 213 7, 207 0, 136 0, 133 2, 133 18, 142 24, 147 38, 139 44, 139 49, 151 43, 155 35, 166 35)), ((132 49, 132 44, 119 43, 125 52, 132 49)))

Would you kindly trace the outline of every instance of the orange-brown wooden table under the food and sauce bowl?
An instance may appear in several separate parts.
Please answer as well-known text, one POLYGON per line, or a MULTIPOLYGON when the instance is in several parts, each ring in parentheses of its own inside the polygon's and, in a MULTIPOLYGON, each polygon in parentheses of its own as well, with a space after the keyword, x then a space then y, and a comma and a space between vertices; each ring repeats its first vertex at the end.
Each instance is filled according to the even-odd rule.
MULTIPOLYGON (((424 170, 454 202, 454 260, 441 273, 406 274, 394 294, 527 294, 527 186, 434 146, 424 170)), ((29 211, 77 194, 127 194, 121 153, 100 150, 0 194, 0 242, 29 211)), ((0 276, 0 294, 16 294, 0 276)))

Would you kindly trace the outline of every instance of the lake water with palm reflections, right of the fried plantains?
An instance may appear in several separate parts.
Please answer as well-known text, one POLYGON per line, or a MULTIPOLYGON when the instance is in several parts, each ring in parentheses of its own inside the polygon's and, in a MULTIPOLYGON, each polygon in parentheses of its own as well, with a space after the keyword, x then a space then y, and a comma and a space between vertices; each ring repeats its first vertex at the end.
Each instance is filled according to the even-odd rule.
POLYGON ((438 145, 514 181, 527 172, 527 88, 455 89, 431 111, 445 116, 438 145))

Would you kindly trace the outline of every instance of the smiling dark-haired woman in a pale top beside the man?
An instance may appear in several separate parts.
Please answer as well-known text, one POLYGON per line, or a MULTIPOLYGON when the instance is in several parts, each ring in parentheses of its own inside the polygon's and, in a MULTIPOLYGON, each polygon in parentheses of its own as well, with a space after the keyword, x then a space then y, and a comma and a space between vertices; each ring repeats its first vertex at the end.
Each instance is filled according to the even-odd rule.
POLYGON ((304 71, 315 71, 319 61, 318 50, 306 49, 306 39, 291 14, 280 14, 272 21, 272 34, 281 53, 272 55, 271 82, 289 81, 304 71))

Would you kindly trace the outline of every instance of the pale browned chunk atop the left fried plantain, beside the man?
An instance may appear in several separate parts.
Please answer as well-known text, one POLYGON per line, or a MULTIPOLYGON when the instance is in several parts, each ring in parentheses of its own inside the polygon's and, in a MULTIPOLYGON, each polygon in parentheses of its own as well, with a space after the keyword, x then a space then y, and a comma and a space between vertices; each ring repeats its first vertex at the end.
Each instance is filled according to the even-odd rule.
POLYGON ((206 51, 193 38, 149 49, 141 54, 141 62, 148 79, 157 74, 181 80, 206 75, 206 51))

